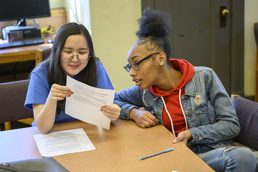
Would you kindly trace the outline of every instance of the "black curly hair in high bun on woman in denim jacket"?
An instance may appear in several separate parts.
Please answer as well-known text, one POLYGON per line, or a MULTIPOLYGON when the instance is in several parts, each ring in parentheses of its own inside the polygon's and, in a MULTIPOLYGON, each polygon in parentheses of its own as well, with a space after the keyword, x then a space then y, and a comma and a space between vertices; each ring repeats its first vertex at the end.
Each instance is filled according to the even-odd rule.
POLYGON ((139 30, 136 32, 137 45, 145 44, 146 50, 162 49, 167 55, 166 62, 170 65, 171 44, 169 36, 172 28, 172 18, 169 13, 151 9, 144 9, 138 20, 139 30), (146 44, 148 43, 148 44, 146 44))

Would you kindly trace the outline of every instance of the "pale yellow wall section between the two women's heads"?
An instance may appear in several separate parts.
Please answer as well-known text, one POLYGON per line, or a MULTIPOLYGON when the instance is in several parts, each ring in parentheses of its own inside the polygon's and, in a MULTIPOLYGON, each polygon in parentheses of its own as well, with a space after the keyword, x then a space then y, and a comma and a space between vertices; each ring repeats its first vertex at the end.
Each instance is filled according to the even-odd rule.
POLYGON ((127 54, 136 42, 137 19, 141 16, 140 0, 90 0, 93 47, 112 81, 120 91, 134 85, 124 69, 127 54))

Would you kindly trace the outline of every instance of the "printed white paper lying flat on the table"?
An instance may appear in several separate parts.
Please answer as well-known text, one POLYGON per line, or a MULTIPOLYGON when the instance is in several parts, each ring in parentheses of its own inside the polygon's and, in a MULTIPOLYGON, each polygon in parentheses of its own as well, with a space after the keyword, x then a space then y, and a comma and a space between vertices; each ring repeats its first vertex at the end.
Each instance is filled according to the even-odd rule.
POLYGON ((96 149, 82 128, 33 135, 42 157, 96 149))

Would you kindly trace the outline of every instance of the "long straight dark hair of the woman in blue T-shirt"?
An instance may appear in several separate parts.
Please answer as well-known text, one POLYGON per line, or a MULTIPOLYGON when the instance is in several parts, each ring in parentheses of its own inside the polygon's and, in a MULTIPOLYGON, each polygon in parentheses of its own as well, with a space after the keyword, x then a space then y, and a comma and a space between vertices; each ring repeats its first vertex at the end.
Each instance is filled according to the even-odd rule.
MULTIPOLYGON (((51 88, 54 83, 58 85, 66 85, 66 75, 64 74, 63 69, 61 67, 59 54, 62 49, 62 46, 64 45, 64 42, 70 35, 83 35, 88 42, 89 54, 91 56, 89 58, 87 66, 78 74, 77 80, 92 87, 96 87, 96 60, 99 61, 99 58, 95 57, 91 36, 88 30, 82 24, 67 23, 61 26, 60 29, 56 32, 50 56, 44 61, 48 64, 49 88, 51 88)), ((57 117, 59 116, 60 111, 64 110, 64 101, 65 99, 57 101, 57 117)))

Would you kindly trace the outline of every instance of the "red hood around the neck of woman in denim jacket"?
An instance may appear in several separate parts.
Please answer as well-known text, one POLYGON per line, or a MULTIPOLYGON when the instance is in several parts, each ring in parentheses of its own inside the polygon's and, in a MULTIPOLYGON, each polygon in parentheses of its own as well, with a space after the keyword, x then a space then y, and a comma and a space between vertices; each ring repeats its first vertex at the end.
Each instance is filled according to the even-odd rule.
POLYGON ((183 73, 183 76, 180 80, 180 82, 177 84, 175 89, 171 90, 169 93, 163 91, 156 85, 150 86, 149 90, 151 93, 158 97, 165 97, 171 94, 175 94, 179 89, 182 89, 191 79, 193 78, 194 73, 194 67, 191 63, 189 63, 186 60, 180 60, 180 59, 169 59, 170 64, 172 65, 173 69, 177 71, 181 71, 183 73))

